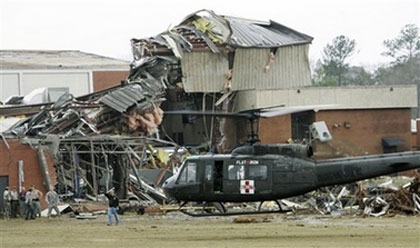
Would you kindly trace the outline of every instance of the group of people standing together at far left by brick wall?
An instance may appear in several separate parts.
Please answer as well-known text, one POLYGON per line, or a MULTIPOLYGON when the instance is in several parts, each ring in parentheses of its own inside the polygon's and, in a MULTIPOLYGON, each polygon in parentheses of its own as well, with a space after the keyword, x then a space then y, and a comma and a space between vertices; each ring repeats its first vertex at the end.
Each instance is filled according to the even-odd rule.
MULTIPOLYGON (((57 215, 60 215, 58 209, 59 197, 57 192, 50 187, 51 190, 45 195, 45 201, 48 204, 48 218, 51 217, 51 212, 54 209, 57 215)), ((25 217, 25 220, 33 220, 36 217, 41 217, 41 203, 43 193, 39 191, 34 185, 28 190, 22 187, 18 193, 16 187, 6 187, 3 192, 3 216, 6 219, 25 217)))

